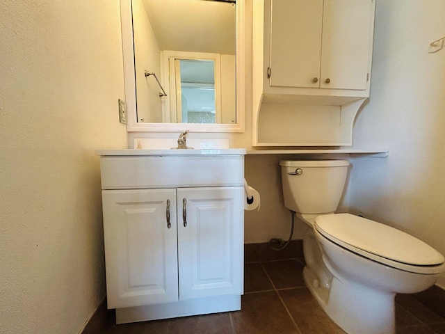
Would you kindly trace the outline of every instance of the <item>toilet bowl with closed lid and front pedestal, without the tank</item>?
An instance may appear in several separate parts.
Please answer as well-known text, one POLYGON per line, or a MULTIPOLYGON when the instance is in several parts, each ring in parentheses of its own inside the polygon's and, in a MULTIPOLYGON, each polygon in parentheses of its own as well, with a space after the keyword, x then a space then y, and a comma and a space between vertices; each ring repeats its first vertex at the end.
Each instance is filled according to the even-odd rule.
POLYGON ((352 214, 318 216, 314 234, 332 273, 325 311, 348 333, 395 333, 394 296, 428 289, 445 270, 423 241, 352 214))

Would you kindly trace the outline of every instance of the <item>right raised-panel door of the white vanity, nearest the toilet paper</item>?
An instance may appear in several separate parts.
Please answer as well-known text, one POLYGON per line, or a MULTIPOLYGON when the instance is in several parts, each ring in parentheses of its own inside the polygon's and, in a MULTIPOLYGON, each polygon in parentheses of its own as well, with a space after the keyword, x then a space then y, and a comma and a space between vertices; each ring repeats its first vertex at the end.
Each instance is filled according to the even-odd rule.
POLYGON ((177 195, 179 299, 242 294, 243 187, 183 188, 177 195))

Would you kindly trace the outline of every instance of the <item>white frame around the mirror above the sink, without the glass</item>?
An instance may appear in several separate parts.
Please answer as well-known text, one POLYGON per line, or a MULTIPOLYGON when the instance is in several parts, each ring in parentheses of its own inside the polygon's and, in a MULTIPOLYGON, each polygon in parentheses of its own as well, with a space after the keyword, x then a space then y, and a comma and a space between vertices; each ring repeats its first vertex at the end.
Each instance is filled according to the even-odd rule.
MULTIPOLYGON (((131 0, 120 0, 125 102, 128 132, 244 132, 245 131, 245 2, 236 0, 236 124, 138 123, 131 0)), ((168 85, 166 85, 168 86, 168 85)))

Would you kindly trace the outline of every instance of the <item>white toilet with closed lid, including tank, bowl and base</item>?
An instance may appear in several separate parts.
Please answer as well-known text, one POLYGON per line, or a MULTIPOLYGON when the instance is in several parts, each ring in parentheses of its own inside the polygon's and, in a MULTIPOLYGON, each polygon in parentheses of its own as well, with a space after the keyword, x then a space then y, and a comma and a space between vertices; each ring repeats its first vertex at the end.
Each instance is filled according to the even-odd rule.
POLYGON ((346 160, 280 161, 284 205, 307 223, 305 283, 350 334, 395 333, 394 296, 435 284, 445 259, 423 241, 352 214, 334 214, 346 160))

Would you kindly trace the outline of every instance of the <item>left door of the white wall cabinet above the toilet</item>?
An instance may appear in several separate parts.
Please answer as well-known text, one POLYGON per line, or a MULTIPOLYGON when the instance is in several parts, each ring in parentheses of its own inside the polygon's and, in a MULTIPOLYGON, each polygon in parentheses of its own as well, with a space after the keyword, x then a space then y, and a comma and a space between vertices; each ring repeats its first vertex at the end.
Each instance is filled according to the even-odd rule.
POLYGON ((270 86, 319 87, 322 22, 323 0, 272 0, 270 86))

